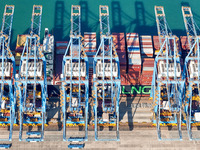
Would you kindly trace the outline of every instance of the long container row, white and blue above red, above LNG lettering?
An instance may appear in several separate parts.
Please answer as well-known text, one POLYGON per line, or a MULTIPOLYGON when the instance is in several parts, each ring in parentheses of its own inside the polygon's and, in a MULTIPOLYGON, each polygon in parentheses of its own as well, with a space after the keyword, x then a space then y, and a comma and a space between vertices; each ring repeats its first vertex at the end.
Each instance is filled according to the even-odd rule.
POLYGON ((139 84, 141 74, 141 54, 139 36, 137 33, 127 33, 128 75, 127 80, 131 85, 139 84))

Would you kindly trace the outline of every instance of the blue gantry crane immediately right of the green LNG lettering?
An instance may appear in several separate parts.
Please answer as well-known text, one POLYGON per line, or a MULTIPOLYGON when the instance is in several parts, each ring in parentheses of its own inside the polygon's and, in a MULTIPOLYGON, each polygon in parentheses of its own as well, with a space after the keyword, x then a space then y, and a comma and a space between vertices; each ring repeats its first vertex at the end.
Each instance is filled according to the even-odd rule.
MULTIPOLYGON (((168 27, 164 8, 155 6, 160 51, 155 57, 150 97, 154 101, 153 124, 157 126, 159 140, 181 140, 181 113, 184 93, 177 37, 168 27), (163 138, 161 126, 177 126, 178 136, 163 138)), ((169 134, 171 134, 169 132, 169 134)))

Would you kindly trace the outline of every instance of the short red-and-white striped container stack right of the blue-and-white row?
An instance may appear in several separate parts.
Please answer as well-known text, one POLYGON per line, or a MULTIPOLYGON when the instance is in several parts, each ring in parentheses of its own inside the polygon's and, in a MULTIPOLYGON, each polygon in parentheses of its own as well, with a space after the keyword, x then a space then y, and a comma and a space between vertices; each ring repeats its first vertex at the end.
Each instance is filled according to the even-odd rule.
POLYGON ((142 58, 153 57, 153 46, 151 36, 140 36, 140 48, 142 58))

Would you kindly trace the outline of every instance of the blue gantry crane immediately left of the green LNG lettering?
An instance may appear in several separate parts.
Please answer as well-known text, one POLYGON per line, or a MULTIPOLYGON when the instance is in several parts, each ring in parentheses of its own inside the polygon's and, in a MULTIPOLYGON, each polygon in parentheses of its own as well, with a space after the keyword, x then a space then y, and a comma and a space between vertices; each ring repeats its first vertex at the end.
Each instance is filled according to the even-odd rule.
POLYGON ((99 6, 101 42, 94 57, 93 66, 93 98, 95 140, 119 140, 119 98, 120 98, 120 66, 119 58, 110 34, 108 6, 99 6), (99 136, 98 127, 112 126, 116 128, 115 137, 106 139, 99 136))

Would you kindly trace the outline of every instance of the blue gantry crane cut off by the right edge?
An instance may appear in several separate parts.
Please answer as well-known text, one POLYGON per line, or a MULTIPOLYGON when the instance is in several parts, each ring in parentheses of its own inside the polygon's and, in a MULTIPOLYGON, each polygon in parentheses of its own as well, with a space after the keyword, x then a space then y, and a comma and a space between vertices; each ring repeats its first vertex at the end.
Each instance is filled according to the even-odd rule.
POLYGON ((192 133, 192 126, 200 126, 200 36, 197 34, 195 21, 190 7, 182 6, 190 51, 185 58, 184 79, 186 82, 185 118, 190 140, 200 140, 192 133))

